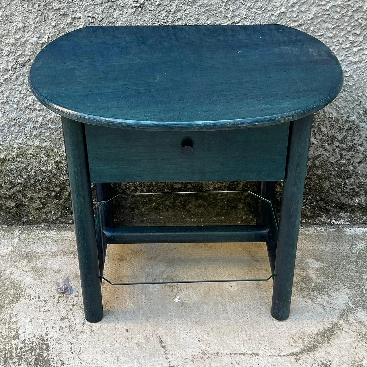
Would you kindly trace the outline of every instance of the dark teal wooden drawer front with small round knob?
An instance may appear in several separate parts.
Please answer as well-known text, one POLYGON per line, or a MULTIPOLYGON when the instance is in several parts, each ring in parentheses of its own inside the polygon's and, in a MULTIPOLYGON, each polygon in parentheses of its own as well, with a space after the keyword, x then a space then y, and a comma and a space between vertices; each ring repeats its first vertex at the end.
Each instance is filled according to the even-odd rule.
POLYGON ((289 123, 193 132, 85 128, 91 182, 284 179, 289 123))

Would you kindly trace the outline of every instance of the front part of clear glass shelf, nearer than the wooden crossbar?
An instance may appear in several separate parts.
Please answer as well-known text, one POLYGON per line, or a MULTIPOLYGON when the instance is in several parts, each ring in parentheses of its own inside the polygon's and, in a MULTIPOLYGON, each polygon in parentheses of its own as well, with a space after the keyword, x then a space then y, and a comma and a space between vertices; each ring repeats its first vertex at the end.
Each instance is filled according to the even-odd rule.
POLYGON ((111 244, 101 279, 112 286, 268 281, 269 270, 259 243, 111 244))

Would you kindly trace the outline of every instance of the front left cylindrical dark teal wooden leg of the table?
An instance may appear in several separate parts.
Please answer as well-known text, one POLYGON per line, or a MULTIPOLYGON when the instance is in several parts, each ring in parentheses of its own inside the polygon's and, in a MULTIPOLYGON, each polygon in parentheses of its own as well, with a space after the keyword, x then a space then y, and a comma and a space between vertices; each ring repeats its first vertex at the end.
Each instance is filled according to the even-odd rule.
POLYGON ((88 321, 98 322, 103 317, 103 308, 84 124, 65 117, 61 117, 61 121, 69 172, 84 315, 88 321))

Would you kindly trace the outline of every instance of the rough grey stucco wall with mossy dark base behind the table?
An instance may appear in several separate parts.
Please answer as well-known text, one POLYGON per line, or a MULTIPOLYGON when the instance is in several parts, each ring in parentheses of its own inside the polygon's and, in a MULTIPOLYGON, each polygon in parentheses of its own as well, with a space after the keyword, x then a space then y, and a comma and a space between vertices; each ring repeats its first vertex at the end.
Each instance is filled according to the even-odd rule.
MULTIPOLYGON (((229 23, 292 26, 337 55, 345 84, 315 117, 303 217, 311 222, 366 222, 366 12, 366 2, 360 0, 1 1, 0 223, 71 220, 59 117, 41 106, 27 85, 30 65, 42 47, 86 25, 229 23)), ((195 184, 212 187, 219 188, 195 184)))

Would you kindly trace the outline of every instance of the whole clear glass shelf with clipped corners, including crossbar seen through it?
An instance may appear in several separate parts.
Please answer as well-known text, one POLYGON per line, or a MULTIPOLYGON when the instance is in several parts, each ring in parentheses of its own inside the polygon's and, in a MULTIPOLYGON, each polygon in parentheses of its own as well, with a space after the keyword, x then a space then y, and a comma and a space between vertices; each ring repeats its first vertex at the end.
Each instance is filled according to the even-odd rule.
POLYGON ((274 274, 274 206, 249 191, 120 194, 97 203, 95 229, 101 281, 112 285, 267 281, 274 274), (262 257, 252 254, 261 247, 254 243, 264 243, 262 257), (119 255, 109 255, 112 249, 119 255), (254 272, 260 258, 261 274, 254 272))

